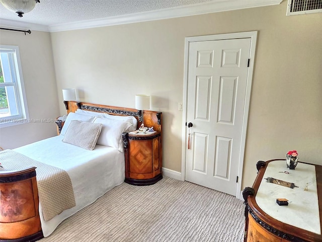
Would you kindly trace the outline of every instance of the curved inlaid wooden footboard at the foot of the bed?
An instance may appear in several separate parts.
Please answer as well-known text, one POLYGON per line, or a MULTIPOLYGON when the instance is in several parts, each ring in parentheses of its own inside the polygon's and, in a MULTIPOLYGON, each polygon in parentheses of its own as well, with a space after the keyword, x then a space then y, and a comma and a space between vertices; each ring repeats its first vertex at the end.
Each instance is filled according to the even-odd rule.
POLYGON ((31 237, 43 237, 35 168, 0 175, 1 241, 34 241, 31 237))

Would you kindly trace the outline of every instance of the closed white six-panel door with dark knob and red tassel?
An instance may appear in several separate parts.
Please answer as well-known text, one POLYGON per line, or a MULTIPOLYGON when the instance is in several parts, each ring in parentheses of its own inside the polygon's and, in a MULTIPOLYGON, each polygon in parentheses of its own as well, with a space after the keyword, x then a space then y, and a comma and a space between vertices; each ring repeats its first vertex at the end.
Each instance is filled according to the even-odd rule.
POLYGON ((250 51, 251 38, 189 43, 186 180, 231 195, 244 153, 250 51))

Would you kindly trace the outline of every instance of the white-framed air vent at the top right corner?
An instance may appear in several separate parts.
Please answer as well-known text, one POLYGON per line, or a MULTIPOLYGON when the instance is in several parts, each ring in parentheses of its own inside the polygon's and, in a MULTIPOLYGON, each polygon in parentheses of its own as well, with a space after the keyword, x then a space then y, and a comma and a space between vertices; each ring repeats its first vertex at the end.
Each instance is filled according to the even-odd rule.
POLYGON ((286 16, 322 13, 322 0, 288 0, 286 16))

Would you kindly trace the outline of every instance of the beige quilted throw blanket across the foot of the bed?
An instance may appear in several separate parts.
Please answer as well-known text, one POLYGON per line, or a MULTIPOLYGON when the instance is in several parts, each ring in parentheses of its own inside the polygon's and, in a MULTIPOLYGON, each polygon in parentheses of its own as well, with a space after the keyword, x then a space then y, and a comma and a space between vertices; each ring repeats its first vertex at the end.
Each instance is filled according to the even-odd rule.
POLYGON ((31 159, 13 150, 0 152, 0 163, 6 170, 36 168, 39 201, 46 221, 76 206, 69 175, 65 170, 31 159))

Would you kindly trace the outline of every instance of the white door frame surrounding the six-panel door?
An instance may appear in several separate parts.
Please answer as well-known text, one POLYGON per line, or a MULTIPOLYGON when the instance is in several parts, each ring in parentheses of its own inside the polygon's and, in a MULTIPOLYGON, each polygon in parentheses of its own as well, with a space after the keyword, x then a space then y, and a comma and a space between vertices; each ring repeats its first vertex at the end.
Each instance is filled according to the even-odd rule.
POLYGON ((240 153, 238 159, 238 181, 236 188, 236 198, 240 198, 241 180, 243 179, 243 165, 244 165, 244 153, 246 142, 246 131, 248 123, 249 105, 251 99, 255 49, 257 40, 257 31, 240 32, 240 33, 228 33, 228 34, 215 34, 205 36, 195 36, 185 38, 185 67, 184 67, 184 88, 183 88, 183 126, 182 126, 182 164, 181 164, 181 180, 186 180, 186 146, 187 146, 187 102, 188 102, 188 59, 189 59, 189 44, 196 41, 208 41, 208 40, 222 40, 222 39, 240 39, 251 38, 251 53, 250 64, 247 75, 246 97, 244 103, 244 117, 243 126, 241 128, 241 141, 240 141, 240 153))

